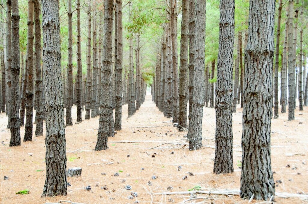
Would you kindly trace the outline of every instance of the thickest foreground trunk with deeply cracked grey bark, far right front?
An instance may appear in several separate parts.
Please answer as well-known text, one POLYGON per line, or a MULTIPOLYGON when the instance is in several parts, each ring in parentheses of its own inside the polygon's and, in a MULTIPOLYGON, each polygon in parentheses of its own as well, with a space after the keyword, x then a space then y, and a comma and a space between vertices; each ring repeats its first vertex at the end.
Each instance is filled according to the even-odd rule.
MULTIPOLYGON (((270 133, 274 61, 274 0, 250 0, 245 49, 241 198, 275 195, 270 133), (256 31, 262 31, 256 32, 256 31)), ((273 199, 272 199, 273 200, 273 199)))

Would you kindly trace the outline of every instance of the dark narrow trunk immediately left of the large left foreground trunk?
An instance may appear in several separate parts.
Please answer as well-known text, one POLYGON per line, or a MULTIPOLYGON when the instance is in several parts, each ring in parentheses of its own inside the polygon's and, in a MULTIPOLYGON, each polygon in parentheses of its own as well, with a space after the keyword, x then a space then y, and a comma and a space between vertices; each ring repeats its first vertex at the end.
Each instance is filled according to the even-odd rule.
POLYGON ((36 127, 35 136, 43 135, 43 83, 41 67, 41 24, 40 24, 40 3, 34 0, 34 61, 35 61, 35 97, 36 97, 36 127))

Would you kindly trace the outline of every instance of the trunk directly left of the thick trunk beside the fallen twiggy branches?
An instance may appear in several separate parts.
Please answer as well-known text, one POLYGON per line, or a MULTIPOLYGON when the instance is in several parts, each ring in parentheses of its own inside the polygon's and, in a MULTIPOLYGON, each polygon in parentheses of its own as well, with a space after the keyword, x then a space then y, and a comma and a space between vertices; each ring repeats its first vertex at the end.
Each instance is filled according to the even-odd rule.
POLYGON ((188 0, 183 0, 180 42, 179 131, 187 129, 188 9, 188 0))

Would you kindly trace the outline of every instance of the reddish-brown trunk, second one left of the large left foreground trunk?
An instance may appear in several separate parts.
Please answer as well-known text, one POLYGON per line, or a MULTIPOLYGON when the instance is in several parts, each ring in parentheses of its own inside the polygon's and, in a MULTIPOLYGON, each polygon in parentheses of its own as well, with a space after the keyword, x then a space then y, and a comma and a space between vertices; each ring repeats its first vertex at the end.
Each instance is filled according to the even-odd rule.
MULTIPOLYGON (((32 141, 32 120, 33 120, 33 17, 34 17, 34 0, 28 1, 28 41, 27 41, 27 87, 26 87, 26 124, 23 141, 32 141)), ((61 79, 61 78, 60 78, 61 79)))

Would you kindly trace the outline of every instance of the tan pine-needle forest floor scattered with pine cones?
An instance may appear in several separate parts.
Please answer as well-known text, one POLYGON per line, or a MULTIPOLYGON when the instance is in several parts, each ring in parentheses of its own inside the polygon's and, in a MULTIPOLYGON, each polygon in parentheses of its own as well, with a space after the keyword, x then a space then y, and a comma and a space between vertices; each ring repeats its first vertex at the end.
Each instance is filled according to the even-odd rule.
MULTIPOLYGON (((308 194, 308 112, 295 112, 294 121, 287 120, 287 113, 279 114, 279 119, 272 120, 271 158, 276 192, 308 194)), ((67 168, 82 167, 78 178, 67 178, 71 186, 67 196, 41 198, 45 182, 45 136, 33 137, 32 142, 22 142, 20 147, 9 147, 10 132, 6 129, 7 117, 0 115, 0 203, 44 203, 69 200, 80 203, 174 203, 183 202, 189 194, 158 195, 152 193, 187 191, 194 186, 201 190, 240 189, 241 170, 241 132, 242 109, 233 114, 233 163, 234 173, 214 175, 215 157, 215 110, 204 108, 203 147, 198 151, 189 151, 188 146, 165 144, 186 143, 184 135, 178 132, 171 120, 165 118, 146 96, 140 110, 128 118, 127 104, 122 108, 122 131, 117 131, 108 139, 109 149, 93 151, 97 139, 99 116, 75 124, 76 107, 72 108, 73 126, 65 128, 67 168), (135 141, 132 143, 116 143, 135 141), (167 147, 169 145, 169 147, 167 147), (171 145, 171 146, 170 146, 171 145), (174 148, 171 148, 174 147, 174 148), (180 149, 181 148, 181 149, 180 149), (155 154, 156 153, 156 154, 155 154), (129 155, 129 157, 128 157, 129 155), (155 155, 155 157, 152 157, 155 155), (112 164, 106 164, 111 162, 112 164), (178 171, 178 166, 182 169, 178 171), (141 170, 144 168, 144 170, 141 170), (118 172, 119 176, 114 176, 118 172), (193 176, 188 175, 192 172, 193 176), (105 174, 103 174, 105 173, 105 174), (153 180, 152 176, 157 176, 153 180), (8 176, 8 180, 3 177, 8 176), (188 176, 183 180, 184 176, 188 176), (148 182, 152 185, 149 186, 148 182), (90 185, 90 191, 84 190, 90 185), (132 190, 126 190, 126 185, 132 190), (108 189, 103 190, 106 186, 108 189), (15 194, 19 190, 29 189, 26 195, 15 194), (138 197, 129 199, 131 192, 138 197), (169 200, 170 199, 170 200, 169 200)), ((85 112, 82 112, 83 118, 85 112)), ((45 123, 44 123, 45 130, 45 123)), ((35 131, 35 124, 33 127, 35 131)), ((23 138, 24 127, 21 128, 23 138)), ((197 195, 201 199, 192 199, 187 203, 247 203, 239 196, 197 195)), ((306 203, 299 198, 275 198, 278 203, 306 203)), ((251 203, 256 203, 252 201, 251 203)), ((183 202, 184 203, 184 202, 183 202)))

